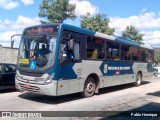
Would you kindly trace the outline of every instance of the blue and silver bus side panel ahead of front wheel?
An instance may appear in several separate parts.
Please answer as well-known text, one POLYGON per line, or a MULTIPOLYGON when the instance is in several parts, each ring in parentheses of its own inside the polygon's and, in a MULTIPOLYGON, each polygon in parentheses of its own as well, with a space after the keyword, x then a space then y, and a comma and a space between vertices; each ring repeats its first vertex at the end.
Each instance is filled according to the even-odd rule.
POLYGON ((68 63, 60 67, 57 95, 79 92, 81 65, 81 63, 68 63))

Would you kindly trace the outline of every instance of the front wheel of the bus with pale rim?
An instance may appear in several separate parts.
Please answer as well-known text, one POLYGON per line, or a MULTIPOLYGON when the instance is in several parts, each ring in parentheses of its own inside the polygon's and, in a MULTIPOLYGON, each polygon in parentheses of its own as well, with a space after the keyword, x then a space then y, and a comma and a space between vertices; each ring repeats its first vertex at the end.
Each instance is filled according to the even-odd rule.
POLYGON ((94 95, 96 89, 96 83, 93 77, 89 77, 85 84, 82 92, 83 97, 91 97, 94 95))

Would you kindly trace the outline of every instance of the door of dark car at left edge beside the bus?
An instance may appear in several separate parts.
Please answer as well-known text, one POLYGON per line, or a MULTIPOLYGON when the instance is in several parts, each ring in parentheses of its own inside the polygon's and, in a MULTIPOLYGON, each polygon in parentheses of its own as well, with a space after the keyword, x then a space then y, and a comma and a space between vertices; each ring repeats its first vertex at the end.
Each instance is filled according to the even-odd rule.
POLYGON ((16 67, 15 65, 4 65, 3 70, 3 86, 14 86, 15 85, 15 74, 16 74, 16 67))

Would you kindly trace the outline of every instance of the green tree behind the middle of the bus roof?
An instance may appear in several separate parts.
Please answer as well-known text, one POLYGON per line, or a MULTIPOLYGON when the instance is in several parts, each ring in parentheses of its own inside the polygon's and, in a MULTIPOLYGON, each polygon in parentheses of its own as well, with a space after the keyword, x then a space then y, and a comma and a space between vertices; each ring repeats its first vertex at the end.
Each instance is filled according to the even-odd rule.
POLYGON ((95 16, 90 16, 89 13, 87 15, 81 17, 81 27, 87 28, 96 32, 101 32, 108 35, 114 34, 114 28, 110 28, 109 18, 103 14, 96 14, 95 16))

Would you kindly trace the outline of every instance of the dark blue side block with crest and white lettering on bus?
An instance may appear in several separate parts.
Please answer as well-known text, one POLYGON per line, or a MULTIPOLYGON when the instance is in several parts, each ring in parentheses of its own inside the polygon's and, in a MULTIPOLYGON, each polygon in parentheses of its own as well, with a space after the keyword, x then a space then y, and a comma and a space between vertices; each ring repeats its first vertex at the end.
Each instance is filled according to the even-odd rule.
POLYGON ((115 74, 118 75, 126 75, 133 74, 133 62, 127 61, 104 61, 100 65, 100 70, 103 76, 113 76, 115 74))

